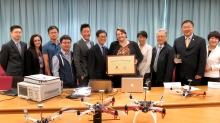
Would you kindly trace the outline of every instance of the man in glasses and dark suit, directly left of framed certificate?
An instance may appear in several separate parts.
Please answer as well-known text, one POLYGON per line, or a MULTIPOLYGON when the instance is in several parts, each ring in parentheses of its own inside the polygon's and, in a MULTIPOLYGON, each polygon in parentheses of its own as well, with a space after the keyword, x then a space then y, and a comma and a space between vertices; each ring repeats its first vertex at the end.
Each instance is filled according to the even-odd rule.
POLYGON ((108 48, 104 46, 107 33, 105 30, 96 32, 98 43, 88 51, 88 71, 90 79, 107 79, 106 75, 106 56, 108 48))

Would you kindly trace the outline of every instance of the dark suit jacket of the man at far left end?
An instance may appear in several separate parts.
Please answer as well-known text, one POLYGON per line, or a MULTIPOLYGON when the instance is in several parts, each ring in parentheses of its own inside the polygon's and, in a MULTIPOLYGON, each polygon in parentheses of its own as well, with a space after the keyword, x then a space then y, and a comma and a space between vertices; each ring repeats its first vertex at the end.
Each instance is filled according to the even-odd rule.
POLYGON ((21 55, 13 40, 2 45, 0 63, 8 76, 24 76, 24 53, 27 44, 21 41, 20 45, 21 55))

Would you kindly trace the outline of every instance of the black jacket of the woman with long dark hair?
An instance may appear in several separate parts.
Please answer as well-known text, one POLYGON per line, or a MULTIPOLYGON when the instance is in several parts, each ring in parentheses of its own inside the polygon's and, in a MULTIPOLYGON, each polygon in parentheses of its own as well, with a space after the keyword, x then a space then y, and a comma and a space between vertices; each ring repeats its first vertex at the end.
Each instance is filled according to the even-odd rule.
MULTIPOLYGON (((27 49, 25 52, 25 73, 26 75, 39 74, 40 64, 38 56, 35 56, 33 51, 27 49)), ((44 72, 44 68, 43 68, 44 72)))

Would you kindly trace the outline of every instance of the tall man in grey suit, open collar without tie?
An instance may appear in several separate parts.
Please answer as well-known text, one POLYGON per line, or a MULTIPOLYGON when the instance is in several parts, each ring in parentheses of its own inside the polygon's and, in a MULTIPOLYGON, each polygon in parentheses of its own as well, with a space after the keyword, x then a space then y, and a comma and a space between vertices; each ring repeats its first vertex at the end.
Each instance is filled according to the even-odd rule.
POLYGON ((88 86, 88 53, 87 51, 94 45, 91 41, 91 30, 89 24, 82 24, 80 27, 82 38, 73 45, 73 58, 76 67, 76 75, 79 80, 79 87, 88 86))

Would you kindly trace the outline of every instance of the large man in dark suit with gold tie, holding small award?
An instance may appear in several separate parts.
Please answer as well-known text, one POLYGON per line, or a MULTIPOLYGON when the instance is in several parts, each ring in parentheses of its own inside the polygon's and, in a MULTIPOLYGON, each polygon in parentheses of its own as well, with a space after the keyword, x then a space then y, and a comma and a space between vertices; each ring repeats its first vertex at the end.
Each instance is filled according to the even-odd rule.
POLYGON ((182 63, 174 59, 177 63, 176 81, 188 85, 191 79, 192 85, 200 85, 206 65, 206 42, 204 38, 193 34, 194 24, 191 20, 185 20, 181 26, 184 36, 175 39, 173 45, 176 54, 182 59, 182 63))

